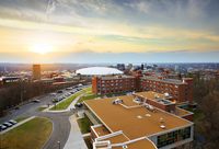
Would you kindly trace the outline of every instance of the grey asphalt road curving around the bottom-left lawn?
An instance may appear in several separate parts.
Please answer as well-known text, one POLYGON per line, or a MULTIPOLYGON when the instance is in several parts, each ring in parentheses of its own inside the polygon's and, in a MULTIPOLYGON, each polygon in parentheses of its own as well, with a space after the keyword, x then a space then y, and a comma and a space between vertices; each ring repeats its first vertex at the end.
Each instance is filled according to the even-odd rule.
MULTIPOLYGON (((64 91, 62 94, 65 94, 66 92, 67 91, 64 91)), ((45 144, 43 149, 59 149, 58 141, 60 141, 60 148, 62 149, 66 141, 68 140, 68 136, 70 133, 69 116, 71 116, 73 113, 72 112, 65 112, 65 113, 39 112, 38 107, 50 103, 54 96, 50 94, 46 94, 43 96, 38 96, 36 99, 39 100, 41 102, 27 103, 20 106, 20 110, 12 110, 9 115, 0 118, 0 123, 7 122, 9 119, 15 119, 18 117, 30 117, 30 116, 47 117, 51 119, 54 129, 53 129, 49 140, 45 144)))

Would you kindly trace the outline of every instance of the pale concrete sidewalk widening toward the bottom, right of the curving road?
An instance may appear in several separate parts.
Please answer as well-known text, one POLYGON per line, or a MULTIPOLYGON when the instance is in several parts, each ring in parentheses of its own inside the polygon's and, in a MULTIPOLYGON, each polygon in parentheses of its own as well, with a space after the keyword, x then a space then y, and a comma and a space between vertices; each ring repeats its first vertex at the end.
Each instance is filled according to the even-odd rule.
POLYGON ((64 149, 88 149, 74 115, 69 117, 71 130, 64 149))

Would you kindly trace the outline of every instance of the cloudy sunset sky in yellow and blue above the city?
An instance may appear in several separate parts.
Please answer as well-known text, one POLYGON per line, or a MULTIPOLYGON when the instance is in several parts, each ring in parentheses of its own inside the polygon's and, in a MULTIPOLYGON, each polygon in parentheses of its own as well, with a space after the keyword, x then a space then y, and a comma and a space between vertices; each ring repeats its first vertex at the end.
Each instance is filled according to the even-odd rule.
POLYGON ((0 62, 219 62, 219 1, 0 0, 0 62))

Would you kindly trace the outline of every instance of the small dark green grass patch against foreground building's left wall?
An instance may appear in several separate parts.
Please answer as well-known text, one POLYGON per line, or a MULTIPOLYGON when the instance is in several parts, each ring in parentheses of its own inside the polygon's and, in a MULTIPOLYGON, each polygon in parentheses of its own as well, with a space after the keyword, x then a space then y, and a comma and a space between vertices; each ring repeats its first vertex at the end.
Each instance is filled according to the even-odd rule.
POLYGON ((91 122, 87 116, 84 118, 78 119, 77 122, 79 124, 82 134, 90 133, 91 122))

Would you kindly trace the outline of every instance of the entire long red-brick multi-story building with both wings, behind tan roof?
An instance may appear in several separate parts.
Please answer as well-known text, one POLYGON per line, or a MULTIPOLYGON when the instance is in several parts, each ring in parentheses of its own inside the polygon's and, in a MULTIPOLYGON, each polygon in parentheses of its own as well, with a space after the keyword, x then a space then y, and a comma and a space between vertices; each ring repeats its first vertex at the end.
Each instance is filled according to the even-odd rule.
POLYGON ((193 79, 163 79, 141 76, 93 77, 92 91, 96 94, 118 93, 128 91, 154 91, 166 93, 177 103, 193 102, 193 79))

